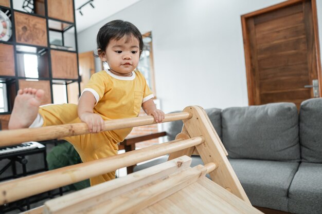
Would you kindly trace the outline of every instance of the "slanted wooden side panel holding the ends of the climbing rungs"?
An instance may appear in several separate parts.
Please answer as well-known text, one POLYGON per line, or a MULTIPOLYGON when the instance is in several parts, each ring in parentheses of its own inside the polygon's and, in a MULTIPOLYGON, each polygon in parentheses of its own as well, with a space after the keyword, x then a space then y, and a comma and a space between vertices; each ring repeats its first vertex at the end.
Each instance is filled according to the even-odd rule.
MULTIPOLYGON (((204 109, 200 106, 188 106, 184 109, 184 112, 192 114, 192 118, 183 120, 184 130, 187 130, 191 138, 199 136, 205 138, 203 144, 195 146, 202 161, 204 164, 215 163, 218 166, 216 170, 210 172, 212 181, 235 194, 246 203, 251 204, 226 157, 227 151, 224 149, 218 134, 208 120, 204 109)), ((187 152, 186 155, 191 155, 193 150, 186 149, 185 151, 187 152)), ((181 153, 181 155, 183 154, 181 153)))

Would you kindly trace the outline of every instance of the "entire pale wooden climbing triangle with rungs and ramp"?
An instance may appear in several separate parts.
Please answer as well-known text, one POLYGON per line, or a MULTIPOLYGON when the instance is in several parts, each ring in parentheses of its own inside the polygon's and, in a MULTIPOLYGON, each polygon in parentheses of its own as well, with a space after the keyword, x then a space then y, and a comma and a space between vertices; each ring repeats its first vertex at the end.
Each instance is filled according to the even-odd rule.
MULTIPOLYGON (((205 111, 189 106, 181 113, 166 114, 164 122, 175 120, 183 120, 184 127, 174 141, 2 182, 0 204, 170 154, 166 163, 47 201, 25 213, 262 213, 249 202, 205 111), (204 166, 190 167, 194 151, 204 166), (212 181, 205 177, 207 173, 212 181)), ((153 123, 152 116, 105 121, 104 130, 153 123)), ((35 140, 31 134, 38 132, 42 140, 57 138, 52 132, 46 134, 45 128, 0 131, 4 139, 0 146, 35 140)), ((88 133, 84 124, 52 126, 51 130, 59 130, 64 137, 88 133), (82 128, 76 133, 76 127, 82 128)))

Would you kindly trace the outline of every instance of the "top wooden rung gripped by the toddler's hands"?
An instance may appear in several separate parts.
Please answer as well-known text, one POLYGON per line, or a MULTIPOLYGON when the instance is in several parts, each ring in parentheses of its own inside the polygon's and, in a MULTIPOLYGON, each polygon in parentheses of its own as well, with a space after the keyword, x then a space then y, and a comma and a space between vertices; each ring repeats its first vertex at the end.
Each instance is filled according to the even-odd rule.
MULTIPOLYGON (((163 123, 177 120, 190 119, 189 112, 170 113, 165 115, 163 123)), ((138 118, 127 118, 104 121, 103 131, 121 128, 145 126, 155 124, 153 116, 139 116, 138 118)), ((45 141, 60 139, 69 136, 90 133, 85 123, 73 123, 40 128, 24 128, 0 131, 0 147, 15 145, 28 141, 45 141)))

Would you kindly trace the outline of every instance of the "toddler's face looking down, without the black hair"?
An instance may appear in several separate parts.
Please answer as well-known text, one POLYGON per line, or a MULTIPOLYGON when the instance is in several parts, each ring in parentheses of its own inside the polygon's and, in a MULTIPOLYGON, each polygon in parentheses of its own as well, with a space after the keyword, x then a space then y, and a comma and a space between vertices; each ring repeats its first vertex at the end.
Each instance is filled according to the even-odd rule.
POLYGON ((113 72, 120 76, 131 76, 139 62, 139 41, 134 36, 124 36, 120 40, 112 39, 106 47, 104 57, 113 72))

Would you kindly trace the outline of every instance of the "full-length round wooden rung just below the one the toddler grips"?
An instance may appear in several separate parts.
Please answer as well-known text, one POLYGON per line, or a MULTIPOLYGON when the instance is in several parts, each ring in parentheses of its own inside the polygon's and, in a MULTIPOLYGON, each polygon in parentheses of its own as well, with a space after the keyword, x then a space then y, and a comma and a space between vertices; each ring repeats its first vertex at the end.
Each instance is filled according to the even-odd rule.
POLYGON ((174 151, 196 146, 203 142, 203 137, 195 137, 187 140, 178 139, 96 161, 67 166, 13 181, 3 182, 0 183, 0 204, 83 181, 122 167, 132 166, 174 151))

